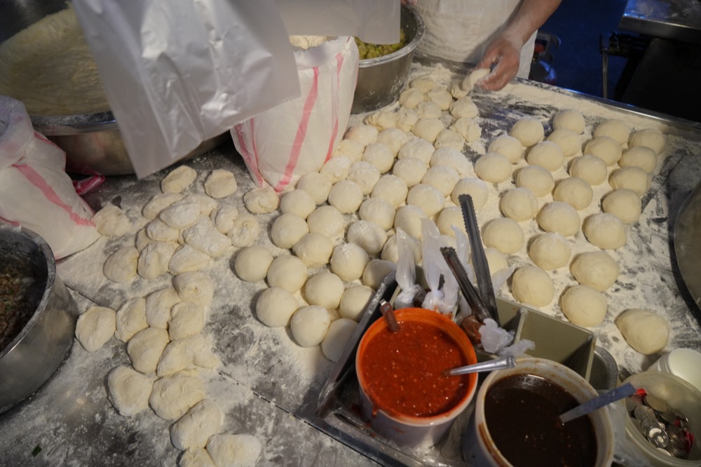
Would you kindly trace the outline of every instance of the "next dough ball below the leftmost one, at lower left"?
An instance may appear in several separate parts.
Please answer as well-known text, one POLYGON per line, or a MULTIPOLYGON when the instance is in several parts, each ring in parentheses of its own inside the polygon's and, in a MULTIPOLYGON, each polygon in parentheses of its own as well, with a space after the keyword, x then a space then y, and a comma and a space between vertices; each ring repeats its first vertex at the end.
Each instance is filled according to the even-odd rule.
POLYGON ((123 417, 131 417, 149 407, 154 381, 130 367, 119 366, 107 375, 107 398, 123 417))

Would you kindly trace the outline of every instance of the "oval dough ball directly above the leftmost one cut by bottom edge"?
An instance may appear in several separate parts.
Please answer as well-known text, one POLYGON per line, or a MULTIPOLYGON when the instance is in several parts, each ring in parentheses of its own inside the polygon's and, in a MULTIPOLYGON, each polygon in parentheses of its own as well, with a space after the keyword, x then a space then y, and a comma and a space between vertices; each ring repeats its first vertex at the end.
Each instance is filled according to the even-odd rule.
POLYGON ((210 436, 219 433, 224 414, 212 400, 205 399, 170 426, 170 441, 182 451, 191 447, 205 447, 210 436))

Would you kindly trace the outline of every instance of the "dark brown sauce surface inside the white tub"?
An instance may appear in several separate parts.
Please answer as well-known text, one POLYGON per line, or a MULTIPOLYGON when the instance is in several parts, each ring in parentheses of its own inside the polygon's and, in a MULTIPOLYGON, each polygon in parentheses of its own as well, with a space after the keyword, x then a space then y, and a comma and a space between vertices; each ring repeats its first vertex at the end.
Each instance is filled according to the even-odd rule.
POLYGON ((515 374, 489 388, 484 417, 496 447, 515 467, 591 467, 597 460, 597 438, 590 418, 559 421, 560 414, 577 405, 558 384, 515 374))

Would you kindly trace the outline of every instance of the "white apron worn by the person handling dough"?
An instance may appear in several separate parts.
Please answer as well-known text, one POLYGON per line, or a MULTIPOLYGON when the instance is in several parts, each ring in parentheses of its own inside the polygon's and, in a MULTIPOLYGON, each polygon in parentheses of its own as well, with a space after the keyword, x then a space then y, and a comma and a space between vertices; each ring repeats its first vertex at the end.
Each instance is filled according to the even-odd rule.
MULTIPOLYGON (((489 43, 516 15, 521 0, 418 0, 416 11, 426 34, 416 54, 430 59, 477 65, 489 43)), ((528 78, 536 33, 521 49, 517 76, 528 78)))

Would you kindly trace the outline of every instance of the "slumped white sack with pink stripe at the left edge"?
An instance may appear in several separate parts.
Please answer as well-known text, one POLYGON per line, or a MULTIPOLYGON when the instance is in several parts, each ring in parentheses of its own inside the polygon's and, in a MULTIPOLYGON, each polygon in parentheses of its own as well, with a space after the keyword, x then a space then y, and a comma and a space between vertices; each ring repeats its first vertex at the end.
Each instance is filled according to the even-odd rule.
POLYGON ((65 166, 66 154, 34 132, 24 104, 0 96, 0 219, 39 234, 56 259, 100 238, 65 166))

